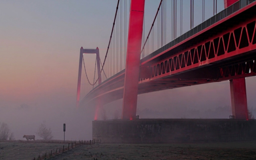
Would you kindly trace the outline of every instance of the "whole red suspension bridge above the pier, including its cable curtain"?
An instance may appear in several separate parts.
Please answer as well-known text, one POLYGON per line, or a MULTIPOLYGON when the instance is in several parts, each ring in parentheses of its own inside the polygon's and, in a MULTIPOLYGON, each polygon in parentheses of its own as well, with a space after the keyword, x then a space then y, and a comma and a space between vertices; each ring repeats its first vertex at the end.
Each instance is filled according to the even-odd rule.
POLYGON ((256 2, 218 0, 224 10, 217 11, 212 0, 212 17, 205 19, 208 3, 198 1, 160 0, 145 33, 145 0, 118 0, 104 60, 98 48, 80 49, 76 106, 96 106, 97 119, 100 107, 123 99, 122 119, 133 120, 138 94, 230 80, 232 114, 248 119, 245 77, 256 75, 256 2), (198 1, 201 23, 194 26, 198 1), (96 54, 93 81, 84 54, 96 54))

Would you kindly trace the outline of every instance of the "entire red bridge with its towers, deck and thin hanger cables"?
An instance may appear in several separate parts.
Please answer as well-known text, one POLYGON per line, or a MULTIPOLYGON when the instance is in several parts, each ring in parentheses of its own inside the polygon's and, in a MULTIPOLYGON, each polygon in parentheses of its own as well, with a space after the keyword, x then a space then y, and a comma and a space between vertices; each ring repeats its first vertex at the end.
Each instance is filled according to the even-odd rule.
MULTIPOLYGON (((103 72, 107 77, 106 74, 116 69, 108 65, 104 66, 107 63, 113 65, 111 58, 106 57, 113 55, 108 54, 108 51, 111 52, 111 47, 116 47, 113 47, 114 44, 110 40, 103 65, 100 64, 99 49, 81 48, 77 105, 90 104, 100 107, 123 98, 122 118, 132 120, 136 116, 137 94, 230 80, 233 116, 237 119, 248 119, 245 77, 256 75, 256 2, 224 0, 225 9, 219 13, 217 13, 217 1, 213 2, 213 5, 216 3, 216 8, 213 9, 215 15, 193 27, 194 2, 191 0, 191 30, 176 37, 177 1, 174 0, 172 5, 176 12, 172 12, 173 40, 170 43, 164 43, 166 37, 161 36, 161 42, 158 42, 162 44, 160 48, 145 56, 146 49, 151 47, 153 50, 152 47, 154 47, 148 44, 154 43, 154 32, 152 33, 156 25, 154 22, 160 21, 161 16, 164 20, 166 16, 166 10, 164 10, 166 1, 161 0, 151 32, 142 44, 145 0, 131 0, 128 41, 127 47, 123 49, 127 54, 125 69, 121 67, 121 71, 110 78, 105 78, 102 82, 103 72), (148 42, 150 38, 152 40, 148 42), (98 79, 91 83, 91 86, 89 85, 91 90, 80 101, 84 53, 96 53, 98 79), (140 59, 141 54, 143 54, 142 59, 140 59), (99 85, 94 87, 96 83, 99 85)), ((180 6, 182 13, 182 3, 180 6)), ((182 24, 182 14, 180 17, 182 24)), ((162 25, 159 31, 164 33, 164 27, 162 25)), ((113 32, 115 32, 114 25, 113 32)), ((124 54, 122 49, 120 53, 124 54)), ((121 64, 124 65, 122 61, 120 66, 121 64)))

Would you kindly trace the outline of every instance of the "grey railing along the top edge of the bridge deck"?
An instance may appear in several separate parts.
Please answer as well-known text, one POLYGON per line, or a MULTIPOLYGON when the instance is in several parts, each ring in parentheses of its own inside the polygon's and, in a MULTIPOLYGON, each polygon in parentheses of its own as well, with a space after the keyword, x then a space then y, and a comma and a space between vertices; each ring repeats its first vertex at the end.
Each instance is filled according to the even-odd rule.
POLYGON ((166 44, 165 46, 161 47, 160 49, 157 49, 153 53, 144 57, 141 60, 141 62, 145 62, 146 60, 150 59, 151 57, 154 57, 157 54, 160 54, 161 52, 165 51, 166 49, 171 48, 172 46, 175 46, 177 43, 180 43, 181 41, 186 40, 187 38, 191 37, 192 35, 198 33, 199 31, 206 29, 207 27, 224 19, 225 17, 229 16, 230 14, 233 14, 234 12, 244 8, 245 6, 247 6, 248 4, 250 4, 254 1, 256 1, 256 0, 239 0, 239 1, 237 1, 233 5, 227 7, 227 9, 224 9, 223 11, 219 12, 218 14, 215 14, 213 17, 209 18, 208 20, 204 21, 203 23, 199 24, 198 26, 194 27, 193 29, 182 34, 180 37, 177 37, 175 40, 172 40, 170 43, 166 44))

